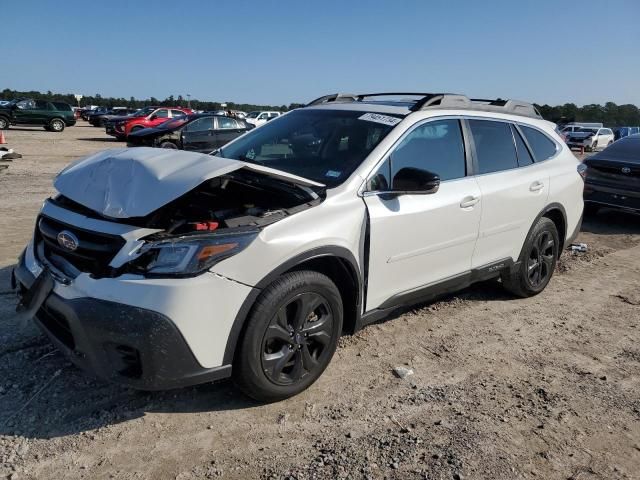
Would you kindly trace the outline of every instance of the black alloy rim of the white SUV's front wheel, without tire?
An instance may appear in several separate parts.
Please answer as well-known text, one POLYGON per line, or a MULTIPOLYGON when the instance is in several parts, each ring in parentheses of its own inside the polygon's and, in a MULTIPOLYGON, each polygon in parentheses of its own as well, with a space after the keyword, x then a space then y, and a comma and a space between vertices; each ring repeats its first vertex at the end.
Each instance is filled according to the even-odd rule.
POLYGON ((316 374, 333 353, 333 324, 329 301, 319 293, 301 293, 282 306, 262 341, 262 368, 269 380, 292 385, 316 374))

